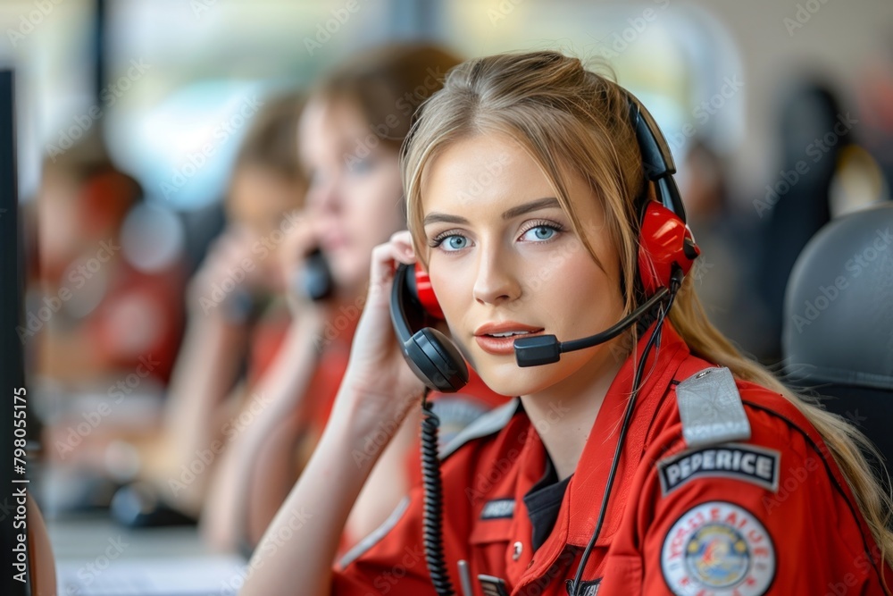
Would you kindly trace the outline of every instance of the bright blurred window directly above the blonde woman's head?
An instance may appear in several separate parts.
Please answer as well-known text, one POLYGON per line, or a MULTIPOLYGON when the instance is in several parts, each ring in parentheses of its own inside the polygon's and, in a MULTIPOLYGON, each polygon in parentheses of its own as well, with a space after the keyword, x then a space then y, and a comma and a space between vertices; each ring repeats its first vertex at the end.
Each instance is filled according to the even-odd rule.
POLYGON ((613 70, 618 82, 654 114, 677 160, 696 135, 721 148, 740 141, 744 94, 727 92, 730 97, 721 96, 722 101, 713 97, 721 92, 726 77, 740 78, 739 57, 728 32, 702 9, 680 8, 669 0, 638 4, 461 0, 445 4, 444 14, 447 38, 455 40, 465 55, 509 48, 560 49, 597 69, 601 63, 600 71, 613 70), (668 10, 671 5, 673 10, 668 10), (722 130, 722 139, 717 130, 722 130))

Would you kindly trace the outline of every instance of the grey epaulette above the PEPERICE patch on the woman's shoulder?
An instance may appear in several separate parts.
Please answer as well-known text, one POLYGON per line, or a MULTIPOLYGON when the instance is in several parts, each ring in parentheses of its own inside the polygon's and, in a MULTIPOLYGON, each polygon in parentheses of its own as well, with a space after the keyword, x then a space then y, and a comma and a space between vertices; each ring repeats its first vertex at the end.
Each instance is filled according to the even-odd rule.
POLYGON ((706 368, 680 382, 676 399, 689 449, 750 438, 750 423, 728 368, 706 368))

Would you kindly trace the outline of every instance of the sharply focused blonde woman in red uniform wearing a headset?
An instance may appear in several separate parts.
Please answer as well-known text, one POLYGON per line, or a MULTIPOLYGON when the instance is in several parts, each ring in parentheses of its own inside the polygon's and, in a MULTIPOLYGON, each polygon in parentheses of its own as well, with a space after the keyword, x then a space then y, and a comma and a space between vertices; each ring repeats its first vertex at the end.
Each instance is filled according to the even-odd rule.
POLYGON ((889 495, 864 440, 707 322, 666 152, 637 103, 576 59, 451 71, 405 147, 412 239, 373 254, 330 424, 244 595, 889 593, 889 495), (520 397, 441 454, 441 531, 423 528, 416 487, 333 568, 374 463, 352 453, 425 393, 388 320, 395 264, 416 259, 462 355, 520 397), (548 351, 547 336, 622 321, 636 324, 518 365, 525 336, 548 351), (442 568, 423 534, 441 536, 442 568))

